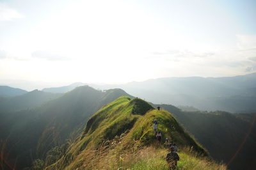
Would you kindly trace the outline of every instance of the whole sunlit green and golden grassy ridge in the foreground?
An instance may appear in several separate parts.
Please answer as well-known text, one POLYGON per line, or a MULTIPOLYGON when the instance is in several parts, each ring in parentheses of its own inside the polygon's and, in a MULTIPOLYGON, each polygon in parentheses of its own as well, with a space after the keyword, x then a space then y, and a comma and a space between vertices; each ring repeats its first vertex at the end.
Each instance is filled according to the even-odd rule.
MULTIPOLYGON (((59 155, 60 159, 44 166, 46 169, 168 169, 164 160, 164 140, 159 143, 152 129, 155 118, 163 139, 168 137, 180 148, 183 158, 178 164, 180 169, 186 169, 184 167, 193 160, 207 164, 209 158, 204 159, 207 152, 184 132, 170 112, 157 111, 140 98, 120 97, 93 114, 83 134, 59 155), (152 162, 147 164, 150 154, 156 158, 151 157, 152 162)), ((196 166, 195 162, 190 168, 193 166, 196 166)), ((204 166, 208 169, 218 167, 213 162, 204 166)))

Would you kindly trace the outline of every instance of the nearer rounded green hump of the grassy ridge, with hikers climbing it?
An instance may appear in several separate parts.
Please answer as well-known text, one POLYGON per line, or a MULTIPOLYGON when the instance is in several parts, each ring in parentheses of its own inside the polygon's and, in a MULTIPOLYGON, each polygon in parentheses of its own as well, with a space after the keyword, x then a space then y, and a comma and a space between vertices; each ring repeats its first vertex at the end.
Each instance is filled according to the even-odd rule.
POLYGON ((207 152, 204 148, 184 132, 184 129, 180 127, 179 123, 177 123, 170 112, 164 110, 157 111, 154 109, 147 112, 145 116, 141 116, 134 125, 134 128, 132 128, 131 133, 128 135, 130 139, 138 140, 138 142, 143 145, 153 143, 156 140, 156 135, 152 129, 152 122, 154 119, 157 119, 157 130, 161 132, 163 139, 168 137, 168 139, 174 141, 181 147, 191 146, 194 150, 207 156, 207 152))

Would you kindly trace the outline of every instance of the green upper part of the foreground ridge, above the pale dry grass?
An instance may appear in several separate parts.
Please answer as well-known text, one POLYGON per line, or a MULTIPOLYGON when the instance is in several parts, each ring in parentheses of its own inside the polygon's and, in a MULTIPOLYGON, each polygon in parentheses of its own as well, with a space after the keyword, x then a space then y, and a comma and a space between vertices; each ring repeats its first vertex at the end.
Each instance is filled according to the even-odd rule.
MULTIPOLYGON (((56 163, 47 166, 46 169, 113 169, 113 165, 109 165, 107 162, 101 165, 103 167, 100 167, 100 162, 93 164, 92 162, 94 162, 95 157, 97 159, 97 155, 95 157, 92 156, 92 159, 89 160, 86 157, 88 157, 88 154, 93 154, 93 150, 101 150, 100 148, 102 147, 110 148, 111 151, 106 155, 111 155, 111 152, 115 151, 116 148, 119 150, 117 154, 122 155, 123 151, 134 147, 137 148, 134 150, 139 151, 143 147, 147 148, 150 144, 161 145, 161 143, 157 143, 156 134, 152 129, 154 119, 157 119, 158 130, 163 133, 163 139, 168 137, 170 140, 175 141, 180 148, 188 146, 192 148, 191 151, 194 150, 207 157, 208 154, 204 148, 184 132, 172 114, 163 110, 157 111, 154 107, 148 107, 148 105, 147 102, 140 98, 131 100, 129 97, 119 97, 110 104, 105 105, 88 120, 81 137, 70 144, 61 158, 56 160, 56 163), (139 108, 137 109, 137 114, 132 113, 134 107, 139 108), (115 140, 118 140, 118 143, 115 140), (113 143, 116 144, 113 145, 113 143), (91 162, 90 164, 87 163, 89 161, 91 162)), ((163 149, 163 147, 159 147, 163 149)), ((104 151, 106 150, 103 149, 102 152, 104 151)), ((100 158, 105 160, 109 159, 108 157, 110 156, 100 158)), ((136 163, 133 162, 133 164, 136 163)), ((115 164, 115 162, 111 164, 115 164)), ((118 167, 121 166, 123 167, 124 164, 118 165, 118 167)), ((161 167, 166 167, 164 158, 161 160, 161 167)), ((131 165, 126 165, 125 168, 131 168, 131 165)))

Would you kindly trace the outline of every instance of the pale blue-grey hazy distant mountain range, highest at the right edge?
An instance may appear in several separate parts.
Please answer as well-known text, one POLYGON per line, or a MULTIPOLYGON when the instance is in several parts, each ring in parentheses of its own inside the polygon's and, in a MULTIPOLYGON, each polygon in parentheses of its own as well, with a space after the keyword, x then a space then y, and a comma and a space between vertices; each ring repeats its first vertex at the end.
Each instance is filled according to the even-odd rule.
MULTIPOLYGON (((127 84, 87 85, 102 90, 121 88, 134 97, 144 98, 154 104, 193 106, 202 111, 256 111, 256 73, 234 77, 170 77, 127 84)), ((65 93, 75 87, 76 84, 71 84, 42 91, 65 93)))

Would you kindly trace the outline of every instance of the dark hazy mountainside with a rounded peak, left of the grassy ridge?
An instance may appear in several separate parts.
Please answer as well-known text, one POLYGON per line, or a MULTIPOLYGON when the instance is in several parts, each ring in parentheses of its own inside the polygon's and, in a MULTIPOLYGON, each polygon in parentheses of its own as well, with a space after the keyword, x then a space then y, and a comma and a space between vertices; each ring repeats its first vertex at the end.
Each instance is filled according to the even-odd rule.
POLYGON ((0 108, 0 144, 5 159, 10 164, 16 162, 18 169, 30 166, 31 157, 44 158, 54 146, 76 137, 94 112, 123 95, 128 94, 122 89, 103 92, 81 86, 33 109, 4 112, 0 108))

